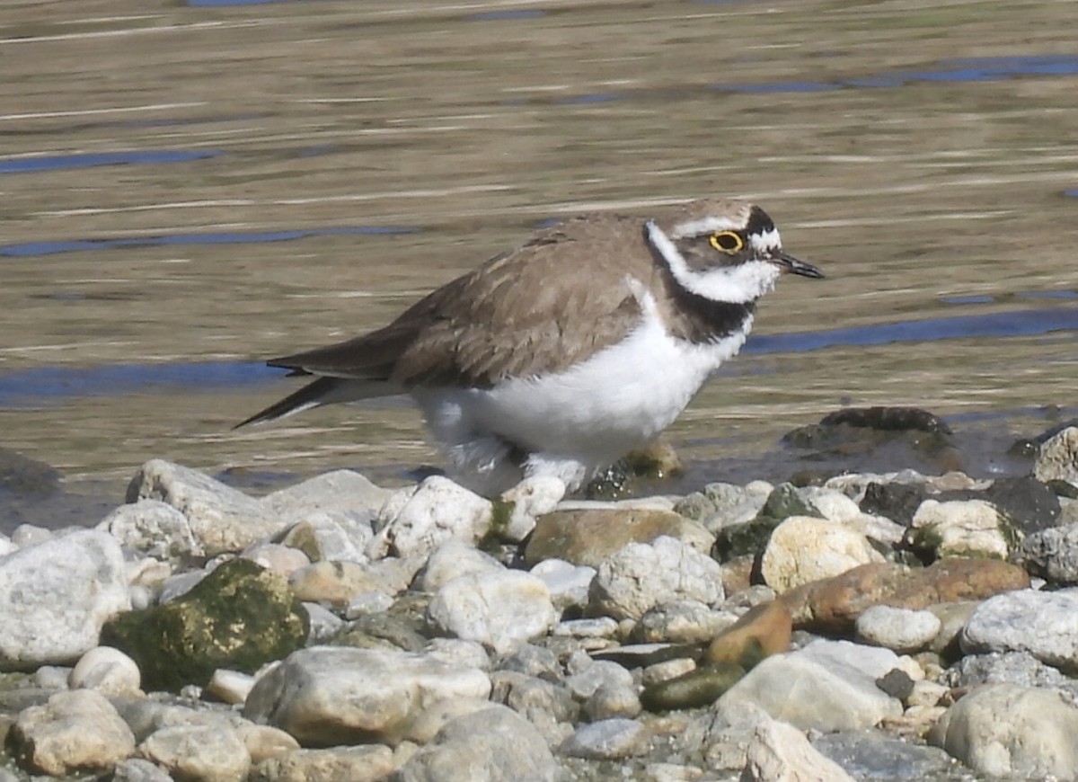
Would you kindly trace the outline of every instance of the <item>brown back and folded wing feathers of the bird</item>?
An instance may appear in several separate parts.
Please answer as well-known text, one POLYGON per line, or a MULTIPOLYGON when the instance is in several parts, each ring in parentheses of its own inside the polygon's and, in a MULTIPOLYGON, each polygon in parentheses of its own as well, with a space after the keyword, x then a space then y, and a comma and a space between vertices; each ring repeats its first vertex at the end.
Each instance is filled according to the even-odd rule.
POLYGON ((564 370, 639 323, 625 278, 651 285, 658 274, 641 231, 638 219, 571 219, 439 288, 383 329, 271 363, 405 387, 489 386, 564 370))

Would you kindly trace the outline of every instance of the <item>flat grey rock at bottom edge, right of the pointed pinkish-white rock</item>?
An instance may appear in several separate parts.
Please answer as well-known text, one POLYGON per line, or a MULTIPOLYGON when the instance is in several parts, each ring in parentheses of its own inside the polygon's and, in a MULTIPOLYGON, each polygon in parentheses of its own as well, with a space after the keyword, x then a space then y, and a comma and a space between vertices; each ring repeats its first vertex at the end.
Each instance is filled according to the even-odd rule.
POLYGON ((951 779, 954 770, 954 762, 943 750, 873 730, 825 733, 813 739, 812 745, 859 780, 951 779))

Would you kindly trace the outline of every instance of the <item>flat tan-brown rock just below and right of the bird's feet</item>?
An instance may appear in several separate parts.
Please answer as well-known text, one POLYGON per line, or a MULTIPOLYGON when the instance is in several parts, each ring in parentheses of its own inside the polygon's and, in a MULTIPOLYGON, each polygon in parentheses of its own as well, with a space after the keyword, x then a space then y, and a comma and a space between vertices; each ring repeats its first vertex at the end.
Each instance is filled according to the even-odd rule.
POLYGON ((715 536, 699 521, 654 508, 586 508, 556 510, 540 517, 524 560, 531 567, 561 559, 598 567, 603 560, 631 543, 651 543, 668 535, 708 554, 715 536))

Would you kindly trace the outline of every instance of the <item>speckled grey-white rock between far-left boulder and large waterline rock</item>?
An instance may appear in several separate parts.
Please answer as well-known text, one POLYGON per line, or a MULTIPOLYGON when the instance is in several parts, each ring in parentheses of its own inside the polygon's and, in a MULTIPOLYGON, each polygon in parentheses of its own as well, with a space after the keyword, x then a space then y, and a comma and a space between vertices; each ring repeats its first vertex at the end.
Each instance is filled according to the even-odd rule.
POLYGON ((121 505, 96 529, 156 560, 189 560, 206 553, 191 531, 188 517, 157 499, 121 505))

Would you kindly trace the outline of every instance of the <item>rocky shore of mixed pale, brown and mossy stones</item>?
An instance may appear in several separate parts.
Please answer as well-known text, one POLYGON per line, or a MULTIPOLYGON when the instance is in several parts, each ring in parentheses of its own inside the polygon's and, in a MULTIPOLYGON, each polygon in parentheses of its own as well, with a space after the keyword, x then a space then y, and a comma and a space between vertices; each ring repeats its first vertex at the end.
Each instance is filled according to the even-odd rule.
POLYGON ((1078 427, 1029 448, 620 502, 152 461, 0 537, 0 782, 1078 779, 1078 427))

